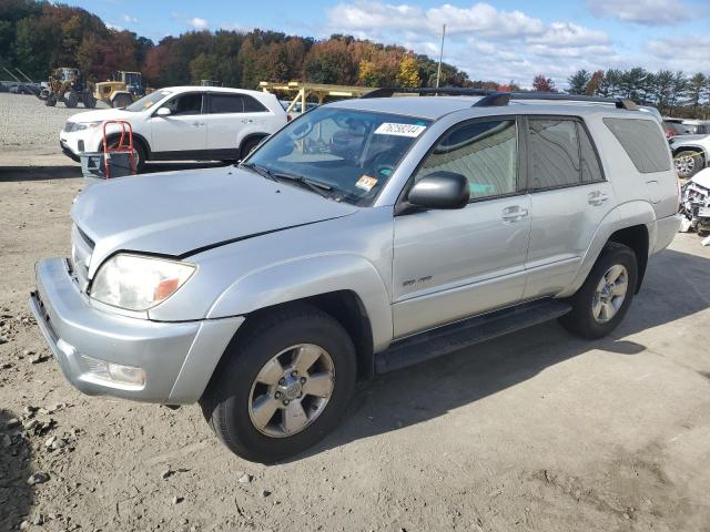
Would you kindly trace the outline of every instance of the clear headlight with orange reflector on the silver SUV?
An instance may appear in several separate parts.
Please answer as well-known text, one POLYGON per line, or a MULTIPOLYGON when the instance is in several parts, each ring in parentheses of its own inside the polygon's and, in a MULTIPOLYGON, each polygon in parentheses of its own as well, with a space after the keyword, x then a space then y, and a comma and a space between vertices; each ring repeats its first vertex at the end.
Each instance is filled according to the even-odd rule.
POLYGON ((178 291, 194 272, 192 264, 121 253, 99 268, 91 297, 128 310, 146 310, 178 291))

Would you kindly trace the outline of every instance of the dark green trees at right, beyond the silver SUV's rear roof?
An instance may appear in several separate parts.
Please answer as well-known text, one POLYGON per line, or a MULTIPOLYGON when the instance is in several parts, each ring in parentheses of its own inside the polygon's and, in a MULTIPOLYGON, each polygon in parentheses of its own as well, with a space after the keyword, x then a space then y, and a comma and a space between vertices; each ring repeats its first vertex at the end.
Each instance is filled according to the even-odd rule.
POLYGON ((710 115, 710 75, 702 72, 649 72, 640 66, 596 72, 578 70, 567 81, 570 94, 627 98, 679 117, 710 115))

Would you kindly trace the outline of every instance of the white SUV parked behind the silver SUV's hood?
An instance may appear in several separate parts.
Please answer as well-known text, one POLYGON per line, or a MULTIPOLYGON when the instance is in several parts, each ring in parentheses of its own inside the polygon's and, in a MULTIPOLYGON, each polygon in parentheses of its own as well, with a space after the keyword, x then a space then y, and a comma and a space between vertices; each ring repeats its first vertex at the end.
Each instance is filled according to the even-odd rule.
MULTIPOLYGON (((99 152, 103 123, 123 120, 133 127, 138 167, 145 161, 232 161, 250 153, 264 137, 286 124, 275 95, 221 86, 160 89, 122 109, 71 116, 59 135, 62 151, 79 161, 82 152, 99 152)), ((106 127, 109 145, 119 127, 106 127)))

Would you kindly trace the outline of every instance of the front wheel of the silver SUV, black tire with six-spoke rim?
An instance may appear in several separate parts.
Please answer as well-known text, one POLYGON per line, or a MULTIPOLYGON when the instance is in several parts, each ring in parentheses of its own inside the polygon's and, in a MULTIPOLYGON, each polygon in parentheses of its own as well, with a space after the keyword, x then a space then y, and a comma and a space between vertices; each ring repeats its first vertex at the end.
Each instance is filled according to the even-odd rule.
POLYGON ((236 345, 227 348, 225 356, 200 405, 220 440, 235 454, 255 462, 272 463, 318 442, 343 418, 355 387, 357 369, 352 339, 333 317, 310 305, 291 306, 261 319, 236 345), (295 346, 308 354, 304 359, 320 354, 311 369, 298 370, 298 362, 292 366, 298 359, 295 346), (274 366, 277 356, 281 364, 274 366), (281 377, 284 368, 286 372, 281 377), (298 372, 290 374, 293 368, 298 372), (264 375, 267 378, 260 377, 264 375), (321 397, 308 393, 310 385, 322 383, 324 376, 329 378, 326 379, 329 396, 325 397, 323 388, 317 388, 321 397), (295 390, 292 386, 301 386, 298 382, 303 382, 302 396, 294 399, 301 388, 295 390), (256 413, 257 405, 266 402, 273 413, 256 413), (294 416, 287 418, 291 413, 294 416), (268 424, 257 422, 260 416, 268 424), (296 421, 290 424, 288 419, 296 421), (287 429, 296 428, 288 433, 287 429))

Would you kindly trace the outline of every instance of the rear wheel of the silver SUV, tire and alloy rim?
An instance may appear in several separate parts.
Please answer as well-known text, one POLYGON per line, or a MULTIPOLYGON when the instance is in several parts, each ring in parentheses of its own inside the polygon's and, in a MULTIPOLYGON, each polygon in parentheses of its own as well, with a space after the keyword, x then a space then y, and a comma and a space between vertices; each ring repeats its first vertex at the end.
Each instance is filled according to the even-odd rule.
POLYGON ((607 336, 626 316, 633 299, 637 282, 638 260, 633 250, 616 242, 607 243, 587 280, 569 299, 572 310, 559 318, 559 323, 567 330, 582 338, 596 339, 607 336), (615 275, 619 273, 619 267, 623 273, 617 278, 615 285, 618 286, 617 290, 620 290, 622 280, 626 279, 622 299, 619 299, 618 291, 607 288, 600 294, 598 290, 602 287, 602 280, 605 278, 613 280, 615 275), (597 315, 598 311, 600 314, 597 315))

